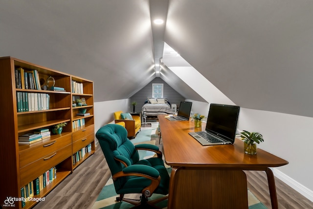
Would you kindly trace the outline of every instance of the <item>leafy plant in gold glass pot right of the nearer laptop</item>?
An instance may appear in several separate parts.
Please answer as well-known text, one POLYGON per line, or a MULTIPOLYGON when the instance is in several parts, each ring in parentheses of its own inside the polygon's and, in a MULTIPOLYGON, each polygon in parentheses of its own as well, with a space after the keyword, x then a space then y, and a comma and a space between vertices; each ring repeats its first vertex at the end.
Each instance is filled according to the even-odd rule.
POLYGON ((255 155, 257 143, 264 141, 262 134, 257 132, 243 131, 240 133, 240 137, 244 140, 244 151, 246 154, 255 155))

